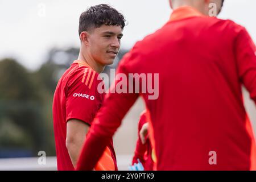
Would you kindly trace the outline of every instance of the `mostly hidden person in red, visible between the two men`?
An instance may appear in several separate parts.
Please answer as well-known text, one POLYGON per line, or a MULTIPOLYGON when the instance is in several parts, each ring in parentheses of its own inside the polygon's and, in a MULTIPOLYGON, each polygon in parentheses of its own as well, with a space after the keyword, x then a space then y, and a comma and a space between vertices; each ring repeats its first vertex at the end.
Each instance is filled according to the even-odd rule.
POLYGON ((132 165, 142 163, 144 171, 152 171, 154 165, 154 154, 150 139, 148 138, 148 122, 146 111, 143 111, 138 123, 138 140, 134 151, 132 165), (139 161, 138 161, 139 159, 139 161))

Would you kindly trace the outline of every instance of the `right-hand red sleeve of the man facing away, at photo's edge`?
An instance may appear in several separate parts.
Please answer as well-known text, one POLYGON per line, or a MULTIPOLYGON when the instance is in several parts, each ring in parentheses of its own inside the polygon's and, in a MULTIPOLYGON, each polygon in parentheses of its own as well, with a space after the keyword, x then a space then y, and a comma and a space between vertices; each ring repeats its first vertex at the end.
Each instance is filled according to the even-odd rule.
POLYGON ((256 48, 245 28, 236 38, 235 50, 239 76, 256 104, 256 48))

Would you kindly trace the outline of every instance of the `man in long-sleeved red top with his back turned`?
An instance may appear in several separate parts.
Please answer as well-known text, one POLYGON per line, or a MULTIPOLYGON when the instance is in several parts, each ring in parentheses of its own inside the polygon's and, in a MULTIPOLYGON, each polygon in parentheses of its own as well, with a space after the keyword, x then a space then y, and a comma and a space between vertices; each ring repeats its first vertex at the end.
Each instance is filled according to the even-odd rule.
MULTIPOLYGON (((208 16, 210 3, 219 12, 221 0, 170 3, 170 20, 135 44, 118 67, 126 76, 159 73, 159 97, 151 100, 151 93, 141 89, 110 93, 94 118, 77 169, 95 166, 139 96, 147 107, 155 169, 256 169, 255 139, 241 89, 243 84, 256 102, 256 49, 250 35, 231 20, 208 16)), ((124 86, 130 88, 132 81, 124 86)), ((117 77, 112 89, 120 82, 117 77)))

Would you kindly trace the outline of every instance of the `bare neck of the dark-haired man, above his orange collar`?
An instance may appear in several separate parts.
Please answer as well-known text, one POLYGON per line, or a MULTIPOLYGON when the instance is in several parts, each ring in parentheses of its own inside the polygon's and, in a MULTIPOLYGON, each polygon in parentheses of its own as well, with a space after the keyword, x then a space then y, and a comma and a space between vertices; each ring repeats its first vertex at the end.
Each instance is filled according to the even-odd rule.
POLYGON ((92 68, 97 73, 101 73, 105 68, 104 65, 98 64, 97 61, 93 60, 92 57, 90 57, 89 55, 81 53, 81 51, 79 52, 78 60, 83 61, 86 64, 88 64, 89 67, 92 68))

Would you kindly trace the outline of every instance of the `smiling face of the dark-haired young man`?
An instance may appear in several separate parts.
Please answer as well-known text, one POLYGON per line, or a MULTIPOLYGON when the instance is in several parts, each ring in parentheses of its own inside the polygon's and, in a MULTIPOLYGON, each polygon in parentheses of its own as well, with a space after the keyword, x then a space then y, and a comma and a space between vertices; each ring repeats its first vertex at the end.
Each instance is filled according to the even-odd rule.
POLYGON ((113 64, 120 49, 122 38, 120 26, 102 25, 88 35, 88 51, 92 59, 101 65, 113 64))

